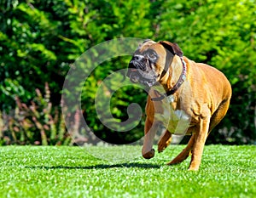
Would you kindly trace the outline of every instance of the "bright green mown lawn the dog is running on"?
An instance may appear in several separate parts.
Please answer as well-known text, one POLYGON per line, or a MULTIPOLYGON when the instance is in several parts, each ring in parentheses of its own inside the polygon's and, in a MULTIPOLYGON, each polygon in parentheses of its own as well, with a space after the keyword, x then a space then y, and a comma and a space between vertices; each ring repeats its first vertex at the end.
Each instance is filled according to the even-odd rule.
POLYGON ((255 197, 256 146, 206 146, 198 172, 187 171, 189 159, 166 166, 182 149, 113 162, 79 147, 0 147, 0 197, 255 197))

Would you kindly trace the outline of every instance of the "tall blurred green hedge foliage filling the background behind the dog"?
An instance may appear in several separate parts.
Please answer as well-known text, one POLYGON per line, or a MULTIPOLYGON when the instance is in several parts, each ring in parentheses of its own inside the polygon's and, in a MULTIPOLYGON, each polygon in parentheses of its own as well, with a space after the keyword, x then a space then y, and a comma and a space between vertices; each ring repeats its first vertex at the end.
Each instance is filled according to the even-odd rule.
MULTIPOLYGON (((255 30, 255 0, 3 0, 0 3, 1 111, 15 110, 16 97, 31 104, 37 98, 35 90, 44 90, 45 82, 51 90, 50 102, 59 107, 70 66, 98 43, 118 37, 168 40, 177 42, 189 59, 223 71, 232 84, 230 110, 211 133, 208 143, 253 144, 256 141, 255 30)), ((111 72, 126 68, 130 58, 102 63, 84 82, 82 109, 86 122, 96 133, 108 130, 97 119, 94 108, 99 82, 111 72)), ((143 106, 146 96, 141 89, 122 88, 111 100, 113 116, 125 121, 127 106, 132 102, 143 106)), ((143 121, 131 133, 140 136, 142 132, 143 121)))

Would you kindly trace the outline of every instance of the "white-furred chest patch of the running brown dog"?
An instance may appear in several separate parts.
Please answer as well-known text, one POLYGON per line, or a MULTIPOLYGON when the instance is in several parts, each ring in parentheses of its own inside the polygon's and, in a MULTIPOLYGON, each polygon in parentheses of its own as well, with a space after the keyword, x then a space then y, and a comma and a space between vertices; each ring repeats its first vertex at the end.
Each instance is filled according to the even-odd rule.
POLYGON ((154 119, 161 122, 170 133, 184 135, 189 128, 191 117, 183 110, 174 110, 173 102, 172 96, 161 101, 154 112, 154 119))

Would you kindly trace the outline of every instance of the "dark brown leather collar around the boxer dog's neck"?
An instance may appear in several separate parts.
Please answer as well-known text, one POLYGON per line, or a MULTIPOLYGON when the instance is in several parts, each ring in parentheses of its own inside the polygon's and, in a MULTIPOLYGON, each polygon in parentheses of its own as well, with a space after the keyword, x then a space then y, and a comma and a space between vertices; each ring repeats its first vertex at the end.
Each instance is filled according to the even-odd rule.
MULTIPOLYGON (((182 71, 181 75, 179 76, 179 78, 178 78, 176 84, 173 86, 173 88, 172 88, 171 90, 167 91, 166 93, 159 93, 159 92, 158 92, 158 94, 160 95, 160 97, 158 97, 158 98, 152 98, 152 99, 151 99, 152 101, 160 101, 160 100, 164 99, 165 97, 168 97, 168 96, 170 96, 170 95, 176 93, 176 92, 177 92, 177 89, 180 88, 180 86, 181 86, 181 85, 183 84, 183 82, 185 81, 186 75, 187 75, 186 63, 185 63, 185 61, 183 60, 183 57, 182 57, 182 56, 180 56, 179 58, 181 59, 181 61, 182 61, 182 63, 183 63, 183 71, 182 71)), ((157 92, 157 91, 156 91, 156 92, 157 92)))

